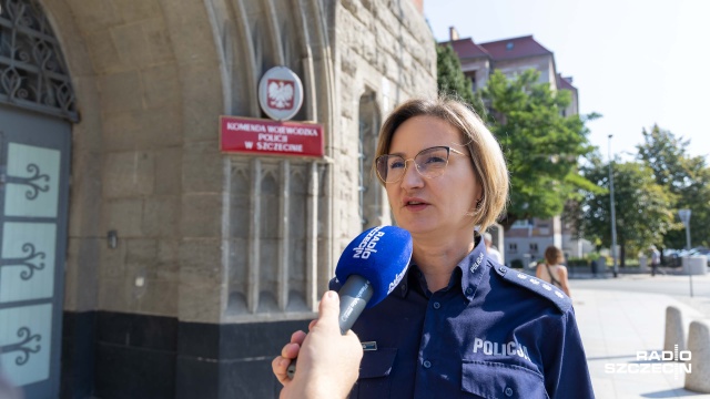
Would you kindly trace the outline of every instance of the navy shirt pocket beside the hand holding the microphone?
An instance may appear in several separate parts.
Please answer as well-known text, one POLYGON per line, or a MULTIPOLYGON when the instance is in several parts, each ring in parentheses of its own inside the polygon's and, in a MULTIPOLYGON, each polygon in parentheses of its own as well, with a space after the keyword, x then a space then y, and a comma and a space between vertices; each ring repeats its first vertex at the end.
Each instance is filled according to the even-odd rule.
POLYGON ((397 348, 366 350, 359 364, 359 378, 351 398, 388 398, 389 374, 397 356, 397 348))

